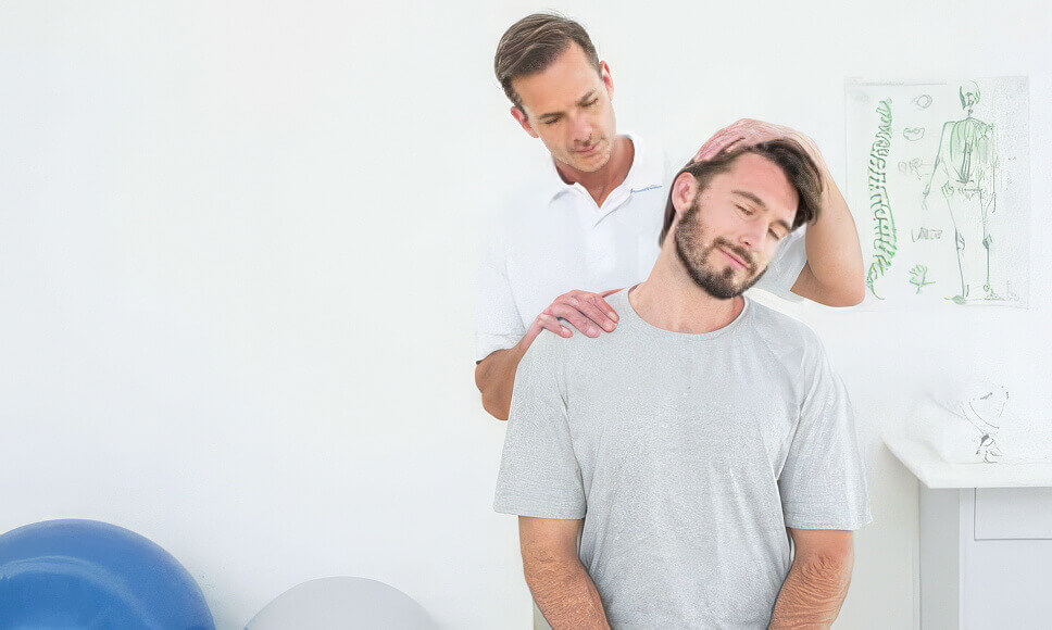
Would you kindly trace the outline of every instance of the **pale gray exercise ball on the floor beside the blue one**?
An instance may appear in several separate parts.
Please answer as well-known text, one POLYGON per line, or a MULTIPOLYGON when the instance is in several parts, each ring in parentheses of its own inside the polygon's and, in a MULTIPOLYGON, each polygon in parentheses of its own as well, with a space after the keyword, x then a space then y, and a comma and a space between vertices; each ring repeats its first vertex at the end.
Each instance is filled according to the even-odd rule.
POLYGON ((384 582, 321 578, 263 606, 246 630, 438 630, 424 607, 384 582))

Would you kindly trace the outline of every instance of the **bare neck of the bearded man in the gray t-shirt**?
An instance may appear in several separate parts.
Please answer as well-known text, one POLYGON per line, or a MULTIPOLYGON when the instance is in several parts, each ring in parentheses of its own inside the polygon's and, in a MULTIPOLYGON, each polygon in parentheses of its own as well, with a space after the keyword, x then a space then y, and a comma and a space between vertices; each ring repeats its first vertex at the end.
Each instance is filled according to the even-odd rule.
POLYGON ((636 313, 651 326, 673 332, 712 332, 734 322, 744 299, 712 297, 687 274, 674 248, 666 240, 650 276, 628 294, 636 313))

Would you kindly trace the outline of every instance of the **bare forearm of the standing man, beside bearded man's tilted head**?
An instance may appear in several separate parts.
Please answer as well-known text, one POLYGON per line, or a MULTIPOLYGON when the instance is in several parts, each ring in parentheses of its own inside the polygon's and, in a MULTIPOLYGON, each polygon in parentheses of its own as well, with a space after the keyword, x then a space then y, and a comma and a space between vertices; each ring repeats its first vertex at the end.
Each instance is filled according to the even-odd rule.
POLYGON ((865 269, 859 232, 848 202, 825 167, 822 210, 818 219, 807 226, 804 247, 807 266, 825 297, 823 303, 851 306, 863 300, 865 269))

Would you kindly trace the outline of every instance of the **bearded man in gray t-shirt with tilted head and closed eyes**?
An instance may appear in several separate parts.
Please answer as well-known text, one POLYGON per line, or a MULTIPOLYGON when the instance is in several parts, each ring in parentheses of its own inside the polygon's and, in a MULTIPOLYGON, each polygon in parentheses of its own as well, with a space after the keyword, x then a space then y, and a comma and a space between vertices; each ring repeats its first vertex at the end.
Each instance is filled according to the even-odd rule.
POLYGON ((819 193, 791 141, 688 165, 617 329, 523 357, 494 507, 556 630, 836 618, 871 519, 851 406, 815 335, 741 295, 819 193))

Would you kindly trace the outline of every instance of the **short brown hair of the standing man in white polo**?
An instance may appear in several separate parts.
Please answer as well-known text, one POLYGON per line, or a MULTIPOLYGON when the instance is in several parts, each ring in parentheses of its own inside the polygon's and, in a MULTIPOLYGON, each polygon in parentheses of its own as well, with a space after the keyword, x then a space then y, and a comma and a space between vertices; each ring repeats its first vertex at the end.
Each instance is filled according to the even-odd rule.
POLYGON ((599 55, 585 28, 555 13, 534 13, 504 32, 493 55, 493 72, 504 93, 523 114, 523 101, 512 88, 512 79, 543 72, 572 42, 585 51, 599 72, 599 55))

